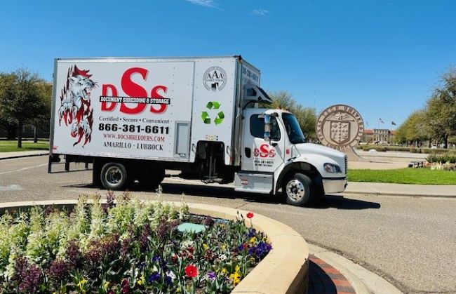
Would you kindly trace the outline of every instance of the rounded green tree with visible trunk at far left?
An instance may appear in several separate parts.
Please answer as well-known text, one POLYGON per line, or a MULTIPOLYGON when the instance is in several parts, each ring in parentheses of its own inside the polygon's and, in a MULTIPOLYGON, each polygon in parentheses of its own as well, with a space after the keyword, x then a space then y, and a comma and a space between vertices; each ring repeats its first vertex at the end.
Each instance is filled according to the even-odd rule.
MULTIPOLYGON (((18 147, 22 148, 22 128, 43 114, 43 79, 28 69, 0 74, 0 116, 18 125, 18 147)), ((49 112, 49 109, 46 109, 49 112)))

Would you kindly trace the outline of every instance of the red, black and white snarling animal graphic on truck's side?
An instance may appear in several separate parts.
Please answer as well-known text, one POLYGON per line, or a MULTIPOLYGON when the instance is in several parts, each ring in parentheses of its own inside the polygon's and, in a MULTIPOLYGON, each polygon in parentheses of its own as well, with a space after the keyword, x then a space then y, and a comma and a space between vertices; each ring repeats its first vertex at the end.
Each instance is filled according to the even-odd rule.
POLYGON ((62 120, 65 126, 71 125, 73 146, 85 138, 83 146, 91 140, 93 109, 90 106, 90 93, 96 83, 90 79, 89 70, 81 70, 76 65, 69 67, 67 83, 60 94, 59 126, 62 120))

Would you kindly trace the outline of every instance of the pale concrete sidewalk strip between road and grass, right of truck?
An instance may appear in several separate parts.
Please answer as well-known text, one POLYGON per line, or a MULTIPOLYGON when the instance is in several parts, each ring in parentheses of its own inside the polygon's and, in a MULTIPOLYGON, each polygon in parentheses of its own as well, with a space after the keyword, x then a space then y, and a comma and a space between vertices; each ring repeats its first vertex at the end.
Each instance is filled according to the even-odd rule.
POLYGON ((381 182, 349 182, 344 194, 456 197, 456 185, 405 185, 381 182))

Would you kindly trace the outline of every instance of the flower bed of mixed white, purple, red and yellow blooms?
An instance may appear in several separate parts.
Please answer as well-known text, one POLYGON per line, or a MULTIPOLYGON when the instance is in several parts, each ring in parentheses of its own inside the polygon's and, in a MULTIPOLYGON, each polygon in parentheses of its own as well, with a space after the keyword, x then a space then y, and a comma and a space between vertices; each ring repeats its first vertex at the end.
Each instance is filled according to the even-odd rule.
POLYGON ((214 220, 128 194, 116 203, 108 194, 106 204, 81 196, 71 209, 1 216, 0 292, 228 293, 269 250, 242 215, 214 220), (184 222, 204 230, 179 230, 184 222))

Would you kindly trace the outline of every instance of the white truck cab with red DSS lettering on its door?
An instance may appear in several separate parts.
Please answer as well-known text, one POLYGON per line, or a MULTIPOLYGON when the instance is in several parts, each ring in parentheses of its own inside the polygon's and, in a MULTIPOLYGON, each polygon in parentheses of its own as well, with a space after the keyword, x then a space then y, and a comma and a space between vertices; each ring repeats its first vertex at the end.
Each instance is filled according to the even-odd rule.
POLYGON ((241 171, 235 190, 277 194, 303 206, 319 195, 343 192, 347 156, 306 142, 296 117, 281 109, 243 109, 241 171))

